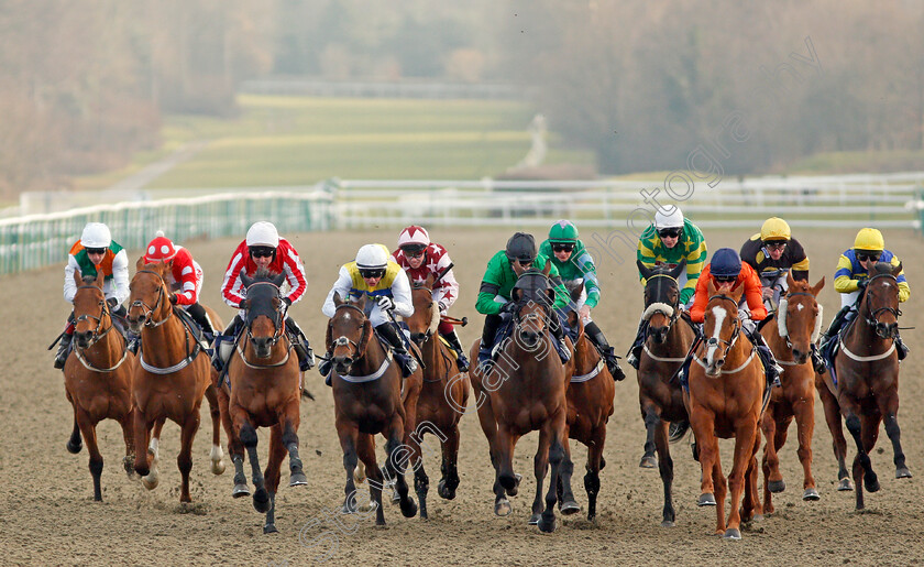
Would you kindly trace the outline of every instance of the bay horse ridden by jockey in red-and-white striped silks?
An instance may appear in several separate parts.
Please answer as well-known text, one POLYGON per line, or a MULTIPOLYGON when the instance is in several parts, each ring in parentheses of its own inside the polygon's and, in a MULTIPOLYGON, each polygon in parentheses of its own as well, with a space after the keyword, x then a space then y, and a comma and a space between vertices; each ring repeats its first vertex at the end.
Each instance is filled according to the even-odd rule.
POLYGON ((289 486, 308 483, 298 455, 301 373, 285 332, 285 303, 279 290, 284 281, 285 274, 262 268, 253 277, 241 272, 245 288, 245 331, 228 360, 228 381, 218 393, 228 452, 234 464, 232 495, 250 495, 244 476, 246 449, 254 484, 253 508, 266 514, 264 534, 277 532, 276 492, 286 452, 289 486), (264 472, 260 470, 256 452, 257 427, 270 427, 270 458, 264 472))

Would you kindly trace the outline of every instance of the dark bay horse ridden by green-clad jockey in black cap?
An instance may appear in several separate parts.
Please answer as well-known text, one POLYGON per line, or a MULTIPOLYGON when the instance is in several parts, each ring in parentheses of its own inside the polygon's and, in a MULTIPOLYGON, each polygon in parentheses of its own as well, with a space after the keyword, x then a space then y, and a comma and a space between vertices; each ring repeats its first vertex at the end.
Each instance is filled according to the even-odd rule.
MULTIPOLYGON (((571 490, 574 465, 568 449, 566 390, 574 358, 562 364, 549 337, 550 319, 557 317, 551 308, 554 291, 548 283, 549 270, 547 263, 543 272, 529 270, 520 275, 512 294, 516 304, 513 336, 503 344, 499 359, 490 367, 490 372, 485 374, 482 366, 469 372, 477 396, 479 422, 487 437, 495 469, 494 513, 505 516, 513 511, 507 497, 516 495, 519 490, 519 478, 513 468, 516 443, 538 429, 539 446, 534 459, 536 498, 529 523, 547 533, 556 530, 559 477, 561 512, 569 515, 581 510, 571 490), (542 481, 550 464, 543 510, 542 481)), ((570 339, 565 341, 566 348, 572 349, 570 339)), ((477 340, 472 345, 472 360, 477 360, 479 346, 477 340)))

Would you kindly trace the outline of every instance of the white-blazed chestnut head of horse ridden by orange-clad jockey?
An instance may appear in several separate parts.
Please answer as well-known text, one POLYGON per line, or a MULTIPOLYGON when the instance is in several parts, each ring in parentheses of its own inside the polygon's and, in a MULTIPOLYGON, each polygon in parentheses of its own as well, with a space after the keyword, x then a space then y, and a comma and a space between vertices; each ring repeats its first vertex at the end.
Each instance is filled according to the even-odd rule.
POLYGON ((703 336, 706 338, 706 356, 703 357, 703 363, 707 377, 719 374, 740 335, 738 302, 745 288, 739 285, 733 290, 733 285, 732 282, 724 282, 716 287, 712 280, 708 283, 710 301, 703 323, 703 336))

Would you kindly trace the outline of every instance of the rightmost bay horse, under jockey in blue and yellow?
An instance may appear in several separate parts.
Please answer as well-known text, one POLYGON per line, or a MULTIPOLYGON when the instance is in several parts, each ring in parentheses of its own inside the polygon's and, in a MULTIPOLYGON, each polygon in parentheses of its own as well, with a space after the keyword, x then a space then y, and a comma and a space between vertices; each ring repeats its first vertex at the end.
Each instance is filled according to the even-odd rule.
MULTIPOLYGON (((836 406, 840 408, 847 430, 857 445, 853 467, 857 510, 864 509, 864 488, 869 492, 879 490, 879 479, 872 470, 869 454, 879 437, 880 423, 886 423, 886 434, 892 441, 895 478, 911 478, 911 472, 905 466, 901 429, 897 418, 899 359, 894 338, 899 331, 901 315, 897 280, 901 271, 901 264, 870 264, 866 291, 859 302, 856 319, 840 338, 831 339, 838 340, 840 347, 834 357, 837 385, 833 392, 837 396, 836 406)), ((831 372, 825 374, 826 382, 831 380, 829 374, 831 372)), ((832 401, 831 397, 827 399, 828 403, 832 401)), ((828 425, 832 425, 832 419, 828 419, 828 425)), ((839 426, 838 418, 836 430, 840 430, 839 426)), ((835 428, 832 428, 832 435, 836 435, 835 428)), ((835 450, 836 443, 835 440, 835 450)))

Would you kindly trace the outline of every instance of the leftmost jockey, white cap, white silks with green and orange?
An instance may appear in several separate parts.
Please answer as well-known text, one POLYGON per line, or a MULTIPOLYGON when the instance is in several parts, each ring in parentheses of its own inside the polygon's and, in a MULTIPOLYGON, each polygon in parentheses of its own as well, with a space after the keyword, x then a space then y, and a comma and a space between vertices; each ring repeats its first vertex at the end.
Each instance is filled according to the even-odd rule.
MULTIPOLYGON (((80 276, 103 274, 102 293, 113 315, 125 316, 122 302, 129 298, 129 257, 122 247, 112 240, 109 227, 102 222, 89 222, 84 227, 80 240, 70 247, 67 265, 64 266, 64 301, 74 303, 77 283, 74 272, 80 276)), ((114 319, 113 319, 114 324, 114 319)), ((67 317, 64 334, 61 337, 55 368, 63 369, 67 360, 70 342, 74 340, 74 312, 67 317)))

